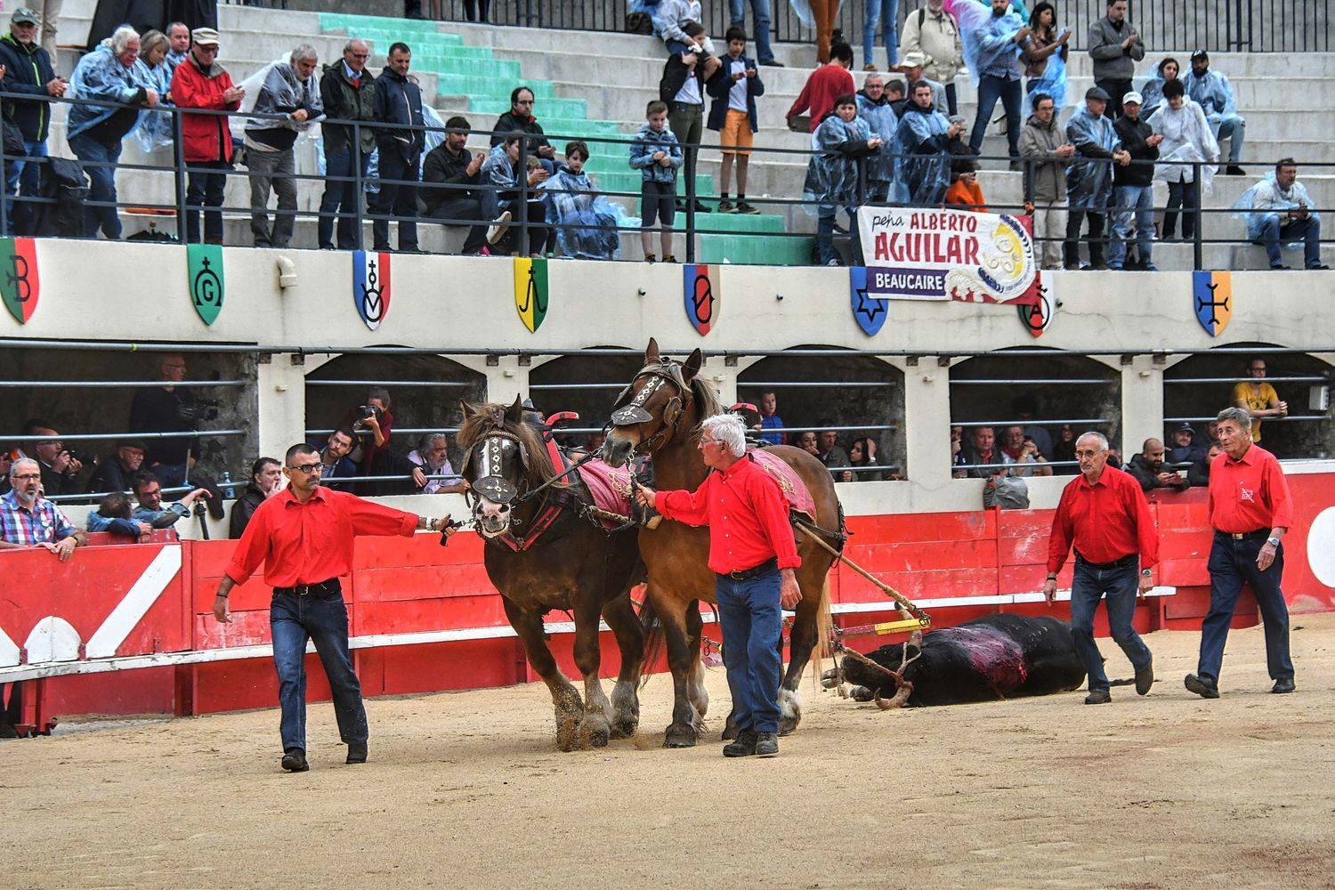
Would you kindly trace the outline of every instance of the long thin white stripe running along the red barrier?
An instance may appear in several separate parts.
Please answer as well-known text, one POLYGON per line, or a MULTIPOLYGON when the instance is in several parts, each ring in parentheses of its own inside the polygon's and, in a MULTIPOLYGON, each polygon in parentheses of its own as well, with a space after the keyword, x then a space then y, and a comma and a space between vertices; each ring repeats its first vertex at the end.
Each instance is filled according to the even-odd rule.
MULTIPOLYGON (((1153 587, 1148 596, 1172 596, 1176 587, 1153 587)), ((1057 591, 1059 600, 1069 600, 1069 590, 1057 591)), ((939 599, 918 600, 922 608, 949 608, 957 606, 1005 606, 1019 603, 1041 603, 1041 592, 1031 594, 1001 594, 995 596, 944 596, 939 599)), ((834 614, 857 612, 892 612, 894 603, 880 600, 874 603, 834 603, 830 611, 834 614)), ((701 616, 704 623, 712 624, 713 614, 701 616)), ((574 622, 543 623, 543 630, 549 634, 573 634, 574 622)), ((610 630, 605 622, 598 622, 598 630, 610 630)), ((379 648, 386 646, 422 646, 426 643, 455 643, 478 639, 505 639, 517 636, 509 624, 498 627, 463 627, 458 630, 419 631, 414 634, 368 634, 366 636, 352 636, 348 639, 350 648, 379 648)), ((314 643, 306 644, 307 652, 315 651, 314 643)), ((36 679, 39 677, 68 677, 72 674, 105 674, 109 671, 128 671, 142 667, 170 667, 172 664, 207 664, 210 662, 231 662, 248 658, 272 658, 274 648, 268 643, 259 646, 232 646, 228 648, 210 648, 198 652, 162 652, 156 655, 128 655, 124 658, 103 658, 95 662, 59 662, 47 664, 24 664, 21 667, 5 669, 0 666, 0 683, 13 681, 36 679)))

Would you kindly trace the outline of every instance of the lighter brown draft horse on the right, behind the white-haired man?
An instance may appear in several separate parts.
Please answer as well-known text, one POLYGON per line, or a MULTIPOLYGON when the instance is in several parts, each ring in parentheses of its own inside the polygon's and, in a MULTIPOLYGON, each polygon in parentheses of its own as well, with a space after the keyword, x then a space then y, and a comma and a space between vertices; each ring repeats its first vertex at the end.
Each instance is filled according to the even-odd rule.
MULTIPOLYGON (((653 455, 654 487, 697 488, 709 468, 700 456, 700 422, 722 407, 708 382, 697 379, 702 363, 700 350, 685 363, 658 355, 658 343, 649 340, 645 367, 634 376, 613 412, 613 428, 603 443, 603 459, 622 466, 638 452, 653 455), (638 408, 633 411, 630 408, 638 408)), ((810 454, 790 446, 769 448, 788 463, 816 499, 816 522, 824 530, 840 530, 840 506, 829 470, 810 454)), ((796 534, 796 532, 794 532, 796 534)), ((832 536, 834 538, 834 536, 832 536)), ((662 522, 639 531, 639 552, 649 567, 649 603, 663 624, 668 664, 672 669, 676 703, 673 721, 663 737, 668 747, 693 746, 709 707, 704 670, 700 663, 702 622, 698 600, 714 602, 714 578, 709 571, 709 528, 662 522)), ((797 604, 788 671, 778 690, 780 733, 792 733, 802 718, 798 682, 812 658, 829 635, 829 591, 826 575, 833 558, 805 535, 797 535, 802 559, 797 583, 802 599, 797 604)), ((736 731, 729 715, 724 737, 736 731)))

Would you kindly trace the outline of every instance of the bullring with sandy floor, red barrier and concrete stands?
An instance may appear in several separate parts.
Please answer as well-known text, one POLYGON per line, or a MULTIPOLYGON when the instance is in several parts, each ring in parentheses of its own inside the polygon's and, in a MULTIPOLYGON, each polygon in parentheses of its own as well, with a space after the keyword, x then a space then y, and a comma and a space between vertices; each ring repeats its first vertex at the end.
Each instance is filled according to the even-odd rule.
MULTIPOLYGON (((838 24, 854 43, 872 1, 842 4, 838 24)), ((51 500, 80 530, 99 510, 88 492, 104 494, 89 487, 95 464, 121 459, 127 444, 143 455, 146 442, 151 451, 188 440, 191 486, 164 482, 164 503, 194 484, 216 492, 214 511, 187 511, 144 539, 89 532, 68 560, 39 546, 0 550, 0 689, 9 702, 0 709, 0 793, 9 809, 0 886, 1335 886, 1335 278, 1315 267, 1268 270, 1266 251, 1244 238, 1232 211, 1286 156, 1298 159, 1318 208, 1335 204, 1328 4, 1314 1, 1315 15, 1292 16, 1279 40, 1252 25, 1279 19, 1263 0, 1135 4, 1131 16, 1144 23, 1149 44, 1135 83, 1164 56, 1185 65, 1192 49, 1208 47, 1247 116, 1246 175, 1215 177, 1202 200, 1200 238, 1159 240, 1156 270, 1041 274, 1024 177, 1011 169, 997 132, 984 139, 977 173, 991 213, 881 213, 865 239, 868 266, 810 264, 816 217, 798 197, 810 133, 790 129, 784 111, 812 69, 812 35, 790 4, 773 4, 784 67, 761 65, 768 87, 750 165, 750 200, 761 212, 680 213, 673 243, 681 264, 642 262, 635 220, 621 231, 621 262, 465 256, 466 227, 426 221, 425 251, 371 250, 364 219, 356 246, 366 250, 316 251, 319 161, 328 148, 319 128, 294 143, 299 199, 288 247, 252 246, 240 169, 227 180, 220 247, 0 238, 4 464, 16 466, 11 458, 28 448, 41 458, 60 440, 57 456, 76 455, 83 471, 71 474, 77 494, 51 500), (983 259, 976 267, 877 266, 889 260, 874 236, 900 224, 924 230, 912 234, 917 239, 941 231, 971 239, 956 256, 981 251, 983 259), (1004 251, 1016 251, 1009 279, 999 271, 1004 251), (693 647, 702 646, 702 666, 690 675, 700 687, 684 681, 674 689, 669 634, 666 651, 651 648, 643 664, 635 731, 610 741, 599 734, 595 690, 625 717, 634 685, 613 686, 622 664, 617 614, 581 611, 593 584, 567 590, 558 571, 587 568, 602 551, 559 543, 638 547, 635 558, 650 567, 635 574, 642 567, 630 560, 626 586, 637 607, 654 595, 689 600, 682 591, 696 590, 685 582, 650 590, 655 571, 694 572, 696 580, 709 572, 701 547, 650 558, 661 527, 613 530, 629 504, 613 502, 598 514, 558 502, 545 512, 549 502, 531 494, 545 472, 535 454, 559 466, 599 448, 609 426, 613 439, 635 428, 641 440, 630 458, 653 454, 663 487, 680 470, 663 451, 685 446, 692 454, 705 404, 765 407, 770 399, 777 410, 769 404, 765 414, 782 418, 786 444, 825 434, 844 448, 856 442, 864 458, 874 451, 874 463, 849 458, 846 475, 825 451, 820 459, 836 467, 834 482, 824 467, 814 482, 806 478, 825 510, 817 531, 836 532, 829 540, 856 564, 812 572, 804 592, 828 611, 809 608, 785 631, 792 640, 818 612, 820 639, 872 652, 910 639, 916 619, 893 596, 925 615, 929 642, 967 622, 1071 618, 1072 559, 1057 572, 1052 604, 1043 590, 1049 530, 1076 460, 1053 452, 1052 475, 1023 478, 1023 503, 991 504, 987 471, 1004 466, 968 456, 961 466, 956 438, 975 447, 984 430, 995 430, 999 443, 1019 430, 1016 440, 1039 435, 1073 447, 1076 435, 1096 431, 1127 460, 1148 450, 1147 440, 1184 436, 1204 448, 1207 424, 1236 403, 1239 384, 1256 379, 1258 363, 1286 403, 1282 416, 1262 422, 1262 440, 1280 458, 1292 492, 1283 595, 1295 694, 1270 693, 1250 590, 1232 620, 1222 697, 1206 701, 1184 689, 1211 604, 1214 530, 1206 486, 1175 483, 1147 496, 1160 562, 1132 618, 1153 652, 1156 681, 1144 697, 1117 685, 1111 705, 1085 707, 1084 681, 1012 697, 985 677, 987 701, 882 709, 826 689, 821 673, 834 662, 825 654, 781 694, 785 718, 800 709, 801 721, 780 739, 777 759, 725 759, 732 701, 714 607, 705 606, 698 628, 689 610, 659 612, 665 623, 686 623, 678 669, 696 664, 693 647), (170 380, 194 406, 188 424, 136 424, 136 396, 171 392, 170 380), (367 403, 388 411, 391 396, 392 430, 375 448, 398 463, 376 475, 364 418, 384 412, 367 415, 367 403), (475 423, 485 434, 503 434, 507 420, 533 430, 525 400, 542 415, 538 428, 547 424, 541 444, 518 436, 491 451, 461 444, 478 416, 495 418, 475 423), (631 414, 619 423, 614 412, 627 408, 650 419, 631 414), (352 472, 370 475, 340 474, 335 486, 466 527, 447 543, 438 531, 356 540, 338 580, 366 701, 368 761, 344 762, 330 685, 308 647, 310 770, 286 773, 274 591, 263 572, 236 584, 232 623, 215 618, 215 592, 236 552, 228 519, 246 498, 252 462, 282 459, 302 442, 327 451, 347 426, 355 434, 350 456, 362 462, 352 472), (441 436, 451 466, 429 478, 447 491, 417 482, 405 463, 441 436), (534 454, 518 448, 526 442, 534 454), (554 443, 567 447, 565 456, 554 443), (478 467, 493 458, 499 463, 489 490, 514 507, 514 524, 485 542, 486 510, 450 484, 455 472, 478 482, 478 467), (574 524, 543 526, 549 519, 574 524), (542 527, 558 532, 543 539, 542 527), (529 559, 519 572, 527 592, 559 602, 517 620, 519 594, 497 570, 498 555, 529 559), (550 647, 573 683, 553 682, 563 722, 554 721, 554 695, 530 658, 535 646, 550 647), (702 723, 682 722, 704 694, 702 723)), ((97 5, 65 0, 61 73, 72 72, 73 44, 91 33, 97 5)), ((526 84, 554 145, 589 140, 586 171, 619 208, 614 217, 625 223, 638 212, 641 177, 626 165, 626 140, 643 123, 646 99, 658 95, 663 52, 655 37, 622 32, 622 0, 498 0, 491 24, 463 23, 459 0, 423 5, 443 19, 402 19, 398 0, 219 4, 218 59, 242 81, 295 44, 336 67, 350 39, 364 39, 375 73, 390 44, 406 40, 423 103, 442 120, 466 115, 470 149, 487 149, 510 91, 526 84), (276 5, 283 8, 268 8, 276 5)), ((900 5, 902 28, 922 4, 900 5)), ((726 7, 705 0, 718 44, 726 7)), ((1056 4, 1060 21, 1076 29, 1067 63, 1075 100, 1059 112, 1063 120, 1095 83, 1084 31, 1103 9, 1097 0, 1056 4)), ((861 85, 861 47, 857 53, 861 85)), ((963 73, 959 101, 972 120, 977 88, 963 73)), ((55 103, 52 156, 71 153, 67 115, 67 104, 55 103)), ((718 209, 716 195, 726 199, 726 189, 718 188, 717 139, 710 131, 704 139, 686 193, 718 209)), ((116 176, 125 234, 175 231, 184 204, 172 164, 170 147, 125 141, 116 176)), ((1165 183, 1151 192, 1163 208, 1165 183)), ((9 231, 7 213, 0 234, 9 231)), ((395 235, 399 226, 391 223, 395 235)), ((848 239, 836 242, 836 263, 852 262, 848 239)), ((1320 248, 1330 259, 1330 244, 1320 248)), ((1302 266, 1302 254, 1286 247, 1283 260, 1302 266)), ((614 451, 598 454, 611 462, 614 451)), ((792 456, 797 448, 768 452, 792 456)), ((681 460, 704 478, 704 464, 681 460)), ((801 454, 794 460, 816 466, 801 454)), ((1193 456, 1168 471, 1188 475, 1197 463, 1193 456)), ((626 495, 618 486, 629 483, 618 479, 607 484, 626 495)), ((583 484, 591 486, 587 478, 583 484)), ((804 559, 824 559, 802 534, 794 531, 804 559)), ((614 563, 607 558, 581 578, 606 586, 614 563)), ((609 603, 626 607, 622 596, 609 603)), ((1095 635, 1108 675, 1131 678, 1103 610, 1095 635)), ((784 651, 788 660, 792 648, 784 651)), ((1023 678, 1033 664, 1021 667, 1023 678)), ((949 678, 933 682, 939 693, 960 691, 949 678)))

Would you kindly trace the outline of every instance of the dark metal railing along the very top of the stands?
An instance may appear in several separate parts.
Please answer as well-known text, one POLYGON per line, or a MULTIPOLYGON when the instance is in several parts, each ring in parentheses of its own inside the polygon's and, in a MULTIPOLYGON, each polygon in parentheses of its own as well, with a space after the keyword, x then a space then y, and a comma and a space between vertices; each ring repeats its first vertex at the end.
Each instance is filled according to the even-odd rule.
MULTIPOLYGON (((481 1, 481 0, 478 0, 481 1)), ((842 29, 844 39, 858 51, 861 60, 862 25, 866 7, 880 0, 844 0, 834 27, 842 29)), ((359 12, 347 4, 347 12, 359 12)), ((467 21, 465 0, 426 0, 425 8, 435 19, 467 21)), ((486 21, 499 25, 574 31, 625 31, 626 0, 493 0, 486 21)), ((900 4, 897 33, 904 33, 904 20, 926 5, 925 0, 904 0, 900 4)), ((1033 7, 1032 3, 1028 4, 1033 7)), ((1057 25, 1072 31, 1071 47, 1088 48, 1089 24, 1101 19, 1104 0, 1055 0, 1057 25)), ((745 3, 746 27, 754 28, 749 0, 745 3)), ((730 24, 729 4, 714 0, 704 4, 709 33, 722 36, 730 24)), ((1137 0, 1131 9, 1131 21, 1139 29, 1151 52, 1191 51, 1204 47, 1211 51, 1248 52, 1323 52, 1331 47, 1330 0, 1215 0, 1210 3, 1180 3, 1175 0, 1137 0)), ((786 0, 770 0, 773 40, 784 43, 810 43, 809 28, 802 27, 786 0)), ((877 35, 880 47, 880 35, 877 35)), ((858 63, 861 64, 861 61, 858 63)))

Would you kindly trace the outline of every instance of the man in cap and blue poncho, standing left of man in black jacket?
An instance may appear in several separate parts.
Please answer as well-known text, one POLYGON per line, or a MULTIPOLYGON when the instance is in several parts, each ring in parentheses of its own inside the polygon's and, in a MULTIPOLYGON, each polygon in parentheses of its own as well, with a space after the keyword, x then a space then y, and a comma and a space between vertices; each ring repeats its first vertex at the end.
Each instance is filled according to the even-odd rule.
POLYGON ((1076 157, 1067 168, 1067 240, 1063 244, 1067 268, 1080 268, 1080 228, 1088 220, 1089 267, 1108 268, 1104 263, 1103 227, 1112 207, 1112 164, 1131 163, 1121 148, 1112 120, 1104 116, 1108 93, 1099 87, 1085 92, 1084 105, 1067 121, 1067 141, 1076 147, 1076 157))

